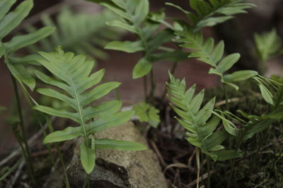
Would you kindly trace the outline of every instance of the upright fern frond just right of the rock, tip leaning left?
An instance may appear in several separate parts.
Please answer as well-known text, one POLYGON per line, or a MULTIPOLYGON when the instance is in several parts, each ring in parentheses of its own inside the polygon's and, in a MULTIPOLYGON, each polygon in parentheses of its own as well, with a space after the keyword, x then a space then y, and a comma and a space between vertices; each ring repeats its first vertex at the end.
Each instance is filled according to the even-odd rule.
MULTIPOLYGON (((185 90, 185 80, 178 80, 170 74, 171 81, 167 83, 168 97, 173 103, 172 108, 180 118, 178 122, 187 130, 186 139, 190 144, 197 146, 203 153, 215 161, 225 161, 230 158, 240 157, 241 153, 224 150, 221 145, 229 134, 225 130, 216 130, 220 118, 213 115, 215 98, 202 108, 204 90, 195 94, 195 85, 185 90)), ((224 120, 224 118, 222 118, 224 120)), ((228 122, 228 120, 226 120, 228 122)), ((231 127, 235 129, 235 127, 231 127)))

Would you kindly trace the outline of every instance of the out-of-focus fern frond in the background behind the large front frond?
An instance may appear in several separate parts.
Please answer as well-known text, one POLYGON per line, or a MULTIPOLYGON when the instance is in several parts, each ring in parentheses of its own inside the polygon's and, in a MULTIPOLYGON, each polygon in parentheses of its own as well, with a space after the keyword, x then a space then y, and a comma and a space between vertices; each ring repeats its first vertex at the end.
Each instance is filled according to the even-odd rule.
MULTIPOLYGON (((28 46, 31 53, 39 50, 53 51, 62 46, 67 51, 77 54, 86 54, 97 58, 106 58, 108 55, 100 48, 110 40, 118 39, 122 32, 105 25, 105 22, 115 18, 110 11, 103 11, 94 15, 73 13, 69 7, 64 7, 56 17, 56 22, 50 15, 42 15, 43 25, 57 27, 57 30, 37 44, 28 46), (103 31, 103 32, 101 32, 103 31)), ((26 25, 28 32, 37 30, 33 25, 26 25)))

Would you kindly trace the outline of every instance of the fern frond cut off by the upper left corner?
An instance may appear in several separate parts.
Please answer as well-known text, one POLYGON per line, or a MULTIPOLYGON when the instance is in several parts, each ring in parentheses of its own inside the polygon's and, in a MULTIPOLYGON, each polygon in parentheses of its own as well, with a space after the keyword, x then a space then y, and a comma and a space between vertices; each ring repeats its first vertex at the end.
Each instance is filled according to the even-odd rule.
POLYGON ((14 63, 12 61, 11 54, 18 51, 18 49, 34 44, 40 39, 47 37, 54 31, 54 27, 43 27, 35 32, 26 35, 18 35, 8 42, 3 42, 4 37, 20 25, 23 19, 28 16, 31 8, 33 8, 33 1, 25 0, 13 11, 9 12, 9 9, 15 3, 16 0, 3 0, 0 3, 0 57, 4 56, 4 61, 13 77, 15 77, 18 82, 27 84, 28 87, 33 90, 35 80, 28 74, 21 63, 14 63))

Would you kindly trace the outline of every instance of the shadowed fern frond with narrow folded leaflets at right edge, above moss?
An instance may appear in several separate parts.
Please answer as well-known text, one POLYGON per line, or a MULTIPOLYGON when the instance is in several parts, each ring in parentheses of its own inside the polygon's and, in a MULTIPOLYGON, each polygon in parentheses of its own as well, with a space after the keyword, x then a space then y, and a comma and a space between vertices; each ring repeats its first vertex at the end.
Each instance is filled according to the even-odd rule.
MULTIPOLYGON (((283 80, 277 77, 272 79, 256 76, 253 79, 258 83, 262 98, 270 104, 271 111, 262 115, 249 115, 241 110, 237 112, 240 115, 233 115, 229 111, 219 111, 222 116, 233 120, 234 123, 239 125, 238 142, 241 143, 246 139, 250 139, 254 134, 262 132, 270 127, 273 123, 282 120, 283 118, 283 80), (243 116, 243 118, 240 118, 243 116)), ((238 144, 239 145, 239 144, 238 144)))

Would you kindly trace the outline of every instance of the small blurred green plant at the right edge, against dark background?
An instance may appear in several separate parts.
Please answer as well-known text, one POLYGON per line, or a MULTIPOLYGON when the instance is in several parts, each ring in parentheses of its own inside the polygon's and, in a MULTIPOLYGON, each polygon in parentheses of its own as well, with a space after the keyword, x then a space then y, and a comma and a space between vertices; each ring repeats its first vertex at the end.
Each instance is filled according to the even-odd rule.
POLYGON ((282 54, 282 39, 277 35, 275 29, 270 32, 265 32, 254 35, 255 50, 260 61, 265 62, 274 57, 282 54))

